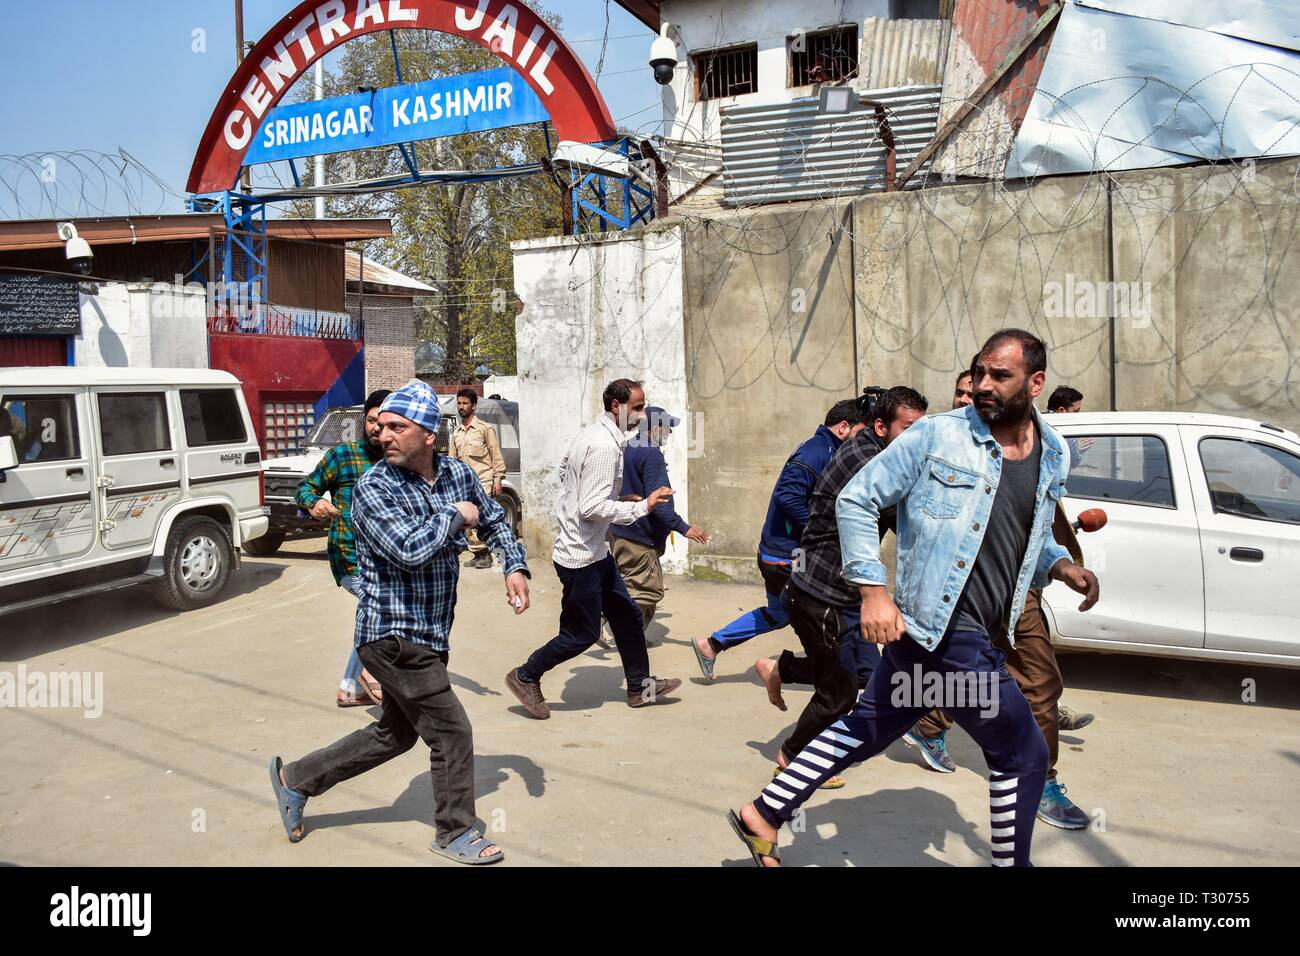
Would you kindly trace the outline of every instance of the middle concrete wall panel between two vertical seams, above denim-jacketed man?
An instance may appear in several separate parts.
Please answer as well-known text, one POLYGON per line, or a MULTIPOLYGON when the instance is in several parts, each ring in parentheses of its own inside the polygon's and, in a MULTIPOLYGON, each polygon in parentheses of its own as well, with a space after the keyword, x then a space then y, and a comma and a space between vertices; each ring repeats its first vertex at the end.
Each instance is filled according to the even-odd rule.
POLYGON ((1106 320, 1043 312, 1049 284, 1063 295, 1106 278, 1100 178, 875 194, 855 200, 854 233, 863 385, 907 384, 948 408, 958 369, 984 339, 1019 326, 1048 345, 1049 390, 1072 385, 1087 408, 1106 407, 1106 320))

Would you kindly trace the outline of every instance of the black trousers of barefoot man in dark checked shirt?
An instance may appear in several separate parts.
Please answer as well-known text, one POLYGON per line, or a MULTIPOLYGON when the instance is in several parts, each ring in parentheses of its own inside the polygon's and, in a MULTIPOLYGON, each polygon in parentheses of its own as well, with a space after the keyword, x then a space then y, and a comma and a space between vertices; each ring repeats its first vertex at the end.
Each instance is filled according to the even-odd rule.
POLYGON ((858 698, 858 671, 866 670, 870 679, 870 671, 880 661, 880 649, 862 640, 857 607, 835 607, 793 584, 785 588, 785 606, 790 610, 790 627, 807 654, 812 684, 812 698, 781 744, 790 761, 849 713, 858 698))

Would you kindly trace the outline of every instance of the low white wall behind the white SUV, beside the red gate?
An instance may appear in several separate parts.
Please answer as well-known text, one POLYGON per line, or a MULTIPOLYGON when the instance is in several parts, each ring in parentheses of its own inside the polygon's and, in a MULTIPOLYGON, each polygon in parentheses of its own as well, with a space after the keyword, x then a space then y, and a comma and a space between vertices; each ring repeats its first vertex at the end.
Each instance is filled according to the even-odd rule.
POLYGON ((199 287, 103 282, 82 295, 73 362, 83 368, 207 368, 207 299, 199 287))

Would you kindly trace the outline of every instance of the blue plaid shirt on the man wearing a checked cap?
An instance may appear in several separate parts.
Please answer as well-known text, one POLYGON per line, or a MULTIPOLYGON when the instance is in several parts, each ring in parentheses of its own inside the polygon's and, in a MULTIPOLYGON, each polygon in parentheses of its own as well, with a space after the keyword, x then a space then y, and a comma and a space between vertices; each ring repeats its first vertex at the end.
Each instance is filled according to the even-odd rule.
POLYGON ((436 468, 430 485, 413 471, 380 462, 356 484, 358 645, 400 637, 448 650, 459 555, 469 546, 458 501, 478 506, 478 533, 500 557, 504 574, 529 574, 524 545, 473 470, 443 455, 436 468))

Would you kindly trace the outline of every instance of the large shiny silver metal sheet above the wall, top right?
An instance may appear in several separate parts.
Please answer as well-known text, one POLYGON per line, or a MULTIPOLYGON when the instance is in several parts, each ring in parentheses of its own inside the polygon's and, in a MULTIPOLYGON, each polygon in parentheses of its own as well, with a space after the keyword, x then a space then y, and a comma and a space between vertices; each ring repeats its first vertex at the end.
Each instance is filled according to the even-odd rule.
POLYGON ((1300 21, 1240 0, 1069 4, 1006 178, 1300 155, 1300 52, 1254 39, 1295 43, 1283 13, 1300 21), (1108 9, 1121 5, 1139 13, 1108 9), (1173 21, 1183 13, 1216 29, 1173 21))

